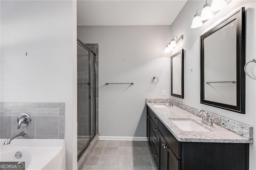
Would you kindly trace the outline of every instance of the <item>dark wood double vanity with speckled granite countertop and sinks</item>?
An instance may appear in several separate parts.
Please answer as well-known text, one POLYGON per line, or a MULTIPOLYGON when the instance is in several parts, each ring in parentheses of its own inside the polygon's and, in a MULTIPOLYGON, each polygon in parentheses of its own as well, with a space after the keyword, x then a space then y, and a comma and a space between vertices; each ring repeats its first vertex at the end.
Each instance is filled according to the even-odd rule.
POLYGON ((248 170, 249 143, 167 103, 147 103, 147 137, 158 170, 248 170))

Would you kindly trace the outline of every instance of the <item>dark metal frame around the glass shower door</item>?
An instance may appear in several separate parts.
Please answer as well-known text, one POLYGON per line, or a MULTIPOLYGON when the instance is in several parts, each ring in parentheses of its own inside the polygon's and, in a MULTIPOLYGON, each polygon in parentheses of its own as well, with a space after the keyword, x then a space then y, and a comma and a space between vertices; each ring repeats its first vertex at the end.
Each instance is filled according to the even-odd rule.
MULTIPOLYGON (((78 161, 81 158, 81 156, 84 154, 84 151, 86 150, 86 148, 90 145, 90 143, 93 140, 94 136, 96 135, 96 132, 95 132, 95 134, 93 136, 91 134, 91 100, 92 100, 92 94, 91 94, 91 61, 92 60, 91 60, 91 57, 93 57, 93 55, 96 57, 96 53, 94 51, 90 50, 88 47, 86 47, 86 45, 84 45, 84 43, 81 40, 79 40, 78 38, 77 38, 77 44, 81 45, 84 49, 89 51, 89 74, 88 74, 88 79, 89 79, 89 82, 90 82, 89 96, 88 96, 89 97, 89 104, 88 105, 89 105, 89 110, 90 110, 90 112, 89 112, 89 120, 90 120, 89 121, 89 127, 90 127, 89 132, 90 132, 90 138, 89 138, 89 142, 83 148, 82 152, 77 156, 77 161, 78 161), (93 54, 92 56, 91 56, 91 53, 93 54), (91 136, 92 136, 92 138, 91 138, 91 136)), ((96 79, 96 77, 95 77, 95 79, 96 79)), ((95 84, 95 86, 96 86, 96 84, 95 84)), ((94 102, 94 105, 96 105, 96 102, 94 102)), ((96 113, 95 113, 95 117, 96 117, 96 113)), ((94 128, 96 129, 96 124, 95 124, 94 128)))

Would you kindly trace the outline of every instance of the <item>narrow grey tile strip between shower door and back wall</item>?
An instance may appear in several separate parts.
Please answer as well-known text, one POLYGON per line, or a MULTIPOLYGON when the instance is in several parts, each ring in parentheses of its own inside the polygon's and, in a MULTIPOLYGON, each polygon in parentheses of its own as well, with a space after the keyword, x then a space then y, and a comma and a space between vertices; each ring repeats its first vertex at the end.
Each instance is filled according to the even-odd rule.
POLYGON ((98 43, 85 43, 84 45, 96 53, 96 134, 99 134, 99 45, 98 43))

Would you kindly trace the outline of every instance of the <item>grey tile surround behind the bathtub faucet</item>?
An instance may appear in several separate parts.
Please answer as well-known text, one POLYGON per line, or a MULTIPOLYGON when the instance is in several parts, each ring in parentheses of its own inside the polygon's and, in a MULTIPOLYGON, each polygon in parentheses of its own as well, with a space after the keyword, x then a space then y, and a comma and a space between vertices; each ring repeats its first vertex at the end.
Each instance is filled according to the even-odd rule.
POLYGON ((0 102, 0 138, 26 130, 20 138, 64 139, 64 107, 64 103, 0 102), (28 113, 32 121, 17 129, 21 113, 28 113))

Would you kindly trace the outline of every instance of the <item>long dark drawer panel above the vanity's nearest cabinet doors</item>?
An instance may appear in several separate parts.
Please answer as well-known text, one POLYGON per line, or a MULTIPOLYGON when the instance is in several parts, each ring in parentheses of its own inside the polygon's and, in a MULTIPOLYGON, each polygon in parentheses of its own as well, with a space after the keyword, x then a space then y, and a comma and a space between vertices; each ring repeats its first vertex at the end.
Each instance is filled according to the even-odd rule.
POLYGON ((172 133, 164 126, 164 124, 160 121, 159 122, 159 131, 163 135, 164 139, 172 149, 175 156, 180 159, 181 154, 181 142, 179 142, 172 133))

